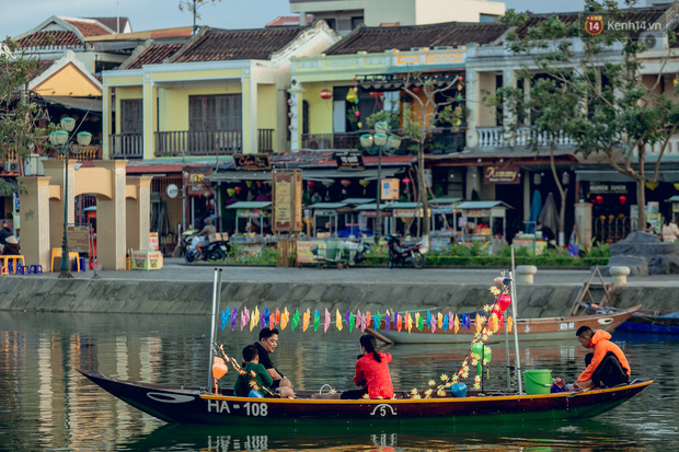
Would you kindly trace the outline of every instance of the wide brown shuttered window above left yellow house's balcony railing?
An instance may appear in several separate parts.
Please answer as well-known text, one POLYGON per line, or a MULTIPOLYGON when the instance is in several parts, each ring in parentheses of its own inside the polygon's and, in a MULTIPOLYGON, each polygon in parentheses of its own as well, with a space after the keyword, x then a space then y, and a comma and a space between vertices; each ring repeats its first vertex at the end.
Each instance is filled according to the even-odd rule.
POLYGON ((188 97, 188 127, 192 131, 241 130, 240 94, 192 95, 188 97))

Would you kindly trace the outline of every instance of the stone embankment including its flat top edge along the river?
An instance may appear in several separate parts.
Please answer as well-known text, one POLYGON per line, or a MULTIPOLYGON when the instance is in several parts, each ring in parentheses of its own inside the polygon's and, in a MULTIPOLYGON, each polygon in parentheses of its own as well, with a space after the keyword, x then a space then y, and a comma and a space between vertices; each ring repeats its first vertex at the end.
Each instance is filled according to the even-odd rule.
MULTIPOLYGON (((0 278, 0 310, 49 312, 101 312, 139 314, 206 315, 211 309, 210 269, 193 278, 180 266, 173 271, 146 279, 113 277, 74 279, 56 276, 10 276, 0 278)), ((254 274, 251 271, 251 276, 254 274)), ((262 271, 277 271, 267 269, 262 271)), ((390 310, 441 310, 469 312, 491 302, 488 292, 495 270, 410 270, 410 269, 280 269, 267 278, 229 278, 225 271, 221 308, 255 305, 323 312, 390 310), (286 273, 287 271, 287 273, 286 273), (297 273, 296 273, 297 271, 297 273), (361 271, 376 273, 364 277, 361 271), (379 273, 378 273, 379 271, 379 273), (474 277, 475 271, 479 274, 474 277), (241 280, 235 280, 241 279, 241 280), (473 281, 474 283, 470 283, 473 281), (486 282, 487 281, 487 282, 486 282)), ((125 273, 123 273, 125 274, 125 273)), ((130 275, 130 273, 127 273, 130 275)), ((134 275, 134 274, 133 274, 134 275)), ((145 275, 146 276, 146 275, 145 275)), ((233 276, 233 275, 232 275, 233 276)), ((564 276, 536 276, 533 285, 517 285, 520 316, 567 315, 588 273, 564 276), (561 282, 560 282, 561 280, 561 282), (582 282, 576 282, 582 281, 582 282)), ((613 305, 643 304, 644 310, 676 311, 677 281, 636 281, 615 290, 613 305)))

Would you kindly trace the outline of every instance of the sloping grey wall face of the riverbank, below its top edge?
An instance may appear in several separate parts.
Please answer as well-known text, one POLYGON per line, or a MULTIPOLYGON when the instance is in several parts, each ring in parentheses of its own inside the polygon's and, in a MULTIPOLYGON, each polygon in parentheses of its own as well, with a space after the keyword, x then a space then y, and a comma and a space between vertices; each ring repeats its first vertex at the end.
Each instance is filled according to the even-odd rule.
MULTIPOLYGON (((520 316, 567 315, 580 285, 518 286, 520 316)), ((620 287, 613 305, 643 304, 644 310, 676 311, 676 288, 620 287)), ((119 279, 0 278, 0 310, 207 315, 212 283, 205 281, 119 279)), ((347 310, 441 310, 453 313, 481 309, 492 301, 488 285, 376 282, 225 282, 221 308, 276 309, 300 312, 347 310)))

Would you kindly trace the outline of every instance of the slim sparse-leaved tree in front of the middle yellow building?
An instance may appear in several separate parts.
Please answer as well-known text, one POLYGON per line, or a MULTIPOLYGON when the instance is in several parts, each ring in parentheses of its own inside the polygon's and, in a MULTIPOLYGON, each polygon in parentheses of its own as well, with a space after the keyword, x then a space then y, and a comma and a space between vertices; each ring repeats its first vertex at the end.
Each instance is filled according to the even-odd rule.
MULTIPOLYGON (((449 124, 459 127, 464 116, 461 94, 462 81, 460 77, 444 79, 434 74, 411 73, 408 71, 403 91, 412 98, 411 104, 417 106, 414 112, 410 105, 402 109, 402 130, 399 138, 413 140, 417 146, 417 204, 423 209, 423 241, 429 245, 429 204, 426 178, 425 178, 425 151, 427 138, 440 125, 449 124), (453 104, 459 105, 453 107, 453 104)), ((371 115, 368 124, 375 124, 376 117, 371 115)), ((391 134, 392 136, 396 136, 391 134)), ((419 234, 419 223, 417 225, 419 234)))

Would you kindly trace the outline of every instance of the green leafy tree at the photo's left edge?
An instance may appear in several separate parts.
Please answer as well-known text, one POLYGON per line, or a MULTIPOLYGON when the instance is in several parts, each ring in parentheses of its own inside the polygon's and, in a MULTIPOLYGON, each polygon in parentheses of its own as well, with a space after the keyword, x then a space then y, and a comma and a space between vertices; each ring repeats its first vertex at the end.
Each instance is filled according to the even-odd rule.
MULTIPOLYGON (((49 147, 47 132, 51 129, 39 126, 47 123, 47 115, 31 101, 27 90, 38 68, 38 61, 23 54, 11 38, 0 44, 0 161, 15 161, 20 176, 31 152, 49 147)), ((20 189, 0 178, 0 194, 20 189)))

